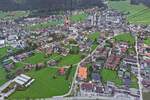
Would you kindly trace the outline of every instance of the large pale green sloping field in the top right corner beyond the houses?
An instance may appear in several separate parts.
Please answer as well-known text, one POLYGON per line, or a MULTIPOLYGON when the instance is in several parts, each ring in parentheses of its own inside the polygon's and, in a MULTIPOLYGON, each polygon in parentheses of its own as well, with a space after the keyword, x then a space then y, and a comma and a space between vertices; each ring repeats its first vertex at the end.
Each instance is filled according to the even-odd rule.
POLYGON ((131 5, 130 0, 109 1, 109 7, 124 13, 129 13, 127 19, 135 24, 150 24, 150 8, 140 4, 131 5))

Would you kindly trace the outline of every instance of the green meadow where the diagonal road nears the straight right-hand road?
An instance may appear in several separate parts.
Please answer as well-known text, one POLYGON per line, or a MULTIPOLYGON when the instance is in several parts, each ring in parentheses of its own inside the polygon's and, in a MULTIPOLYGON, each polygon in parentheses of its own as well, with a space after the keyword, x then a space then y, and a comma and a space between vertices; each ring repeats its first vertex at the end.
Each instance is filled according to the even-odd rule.
POLYGON ((116 37, 114 37, 114 39, 116 40, 116 42, 128 42, 130 45, 135 44, 135 38, 131 36, 130 33, 117 35, 116 37))

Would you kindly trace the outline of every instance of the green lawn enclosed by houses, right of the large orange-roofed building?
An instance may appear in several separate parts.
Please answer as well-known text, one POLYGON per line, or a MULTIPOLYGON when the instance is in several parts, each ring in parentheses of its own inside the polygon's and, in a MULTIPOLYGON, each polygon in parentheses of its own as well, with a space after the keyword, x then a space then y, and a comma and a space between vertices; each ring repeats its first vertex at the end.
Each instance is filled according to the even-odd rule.
POLYGON ((116 71, 102 69, 100 75, 102 77, 103 83, 111 81, 114 82, 117 86, 123 85, 123 80, 118 77, 116 71))

